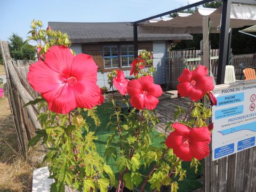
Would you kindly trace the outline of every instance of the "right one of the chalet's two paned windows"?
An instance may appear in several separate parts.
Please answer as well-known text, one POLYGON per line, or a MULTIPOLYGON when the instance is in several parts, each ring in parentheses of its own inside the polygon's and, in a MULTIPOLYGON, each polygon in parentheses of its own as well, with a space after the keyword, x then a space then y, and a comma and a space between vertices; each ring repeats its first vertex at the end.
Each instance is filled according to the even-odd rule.
POLYGON ((121 45, 122 67, 129 67, 134 60, 133 45, 121 45))

